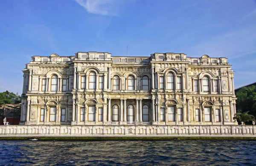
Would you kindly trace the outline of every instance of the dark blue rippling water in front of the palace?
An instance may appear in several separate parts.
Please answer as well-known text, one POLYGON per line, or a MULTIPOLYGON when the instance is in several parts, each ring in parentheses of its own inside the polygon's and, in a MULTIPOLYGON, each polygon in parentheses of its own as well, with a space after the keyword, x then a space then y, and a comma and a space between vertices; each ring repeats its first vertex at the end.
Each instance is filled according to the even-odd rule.
POLYGON ((256 165, 256 142, 0 141, 0 165, 256 165))

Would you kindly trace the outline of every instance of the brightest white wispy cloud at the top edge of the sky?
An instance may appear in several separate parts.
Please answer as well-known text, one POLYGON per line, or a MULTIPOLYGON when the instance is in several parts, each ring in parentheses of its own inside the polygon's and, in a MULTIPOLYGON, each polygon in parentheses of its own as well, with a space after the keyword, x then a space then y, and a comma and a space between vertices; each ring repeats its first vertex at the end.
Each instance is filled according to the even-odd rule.
POLYGON ((92 14, 117 15, 113 11, 116 0, 76 0, 76 2, 92 14))

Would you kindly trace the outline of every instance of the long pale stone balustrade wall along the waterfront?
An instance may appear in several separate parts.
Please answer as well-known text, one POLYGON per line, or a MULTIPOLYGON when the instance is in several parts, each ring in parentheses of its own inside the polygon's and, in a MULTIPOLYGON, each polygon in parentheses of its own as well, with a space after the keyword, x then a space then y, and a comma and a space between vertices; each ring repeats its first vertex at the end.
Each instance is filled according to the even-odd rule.
POLYGON ((255 126, 242 125, 108 125, 108 126, 0 126, 3 135, 255 135, 255 126))

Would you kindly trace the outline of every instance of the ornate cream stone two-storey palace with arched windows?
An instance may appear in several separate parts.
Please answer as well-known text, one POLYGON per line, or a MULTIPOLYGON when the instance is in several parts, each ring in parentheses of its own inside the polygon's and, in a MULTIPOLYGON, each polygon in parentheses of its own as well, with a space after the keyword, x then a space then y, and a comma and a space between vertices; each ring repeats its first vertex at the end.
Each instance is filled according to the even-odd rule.
POLYGON ((235 125, 225 57, 108 52, 33 56, 23 70, 20 125, 235 125))

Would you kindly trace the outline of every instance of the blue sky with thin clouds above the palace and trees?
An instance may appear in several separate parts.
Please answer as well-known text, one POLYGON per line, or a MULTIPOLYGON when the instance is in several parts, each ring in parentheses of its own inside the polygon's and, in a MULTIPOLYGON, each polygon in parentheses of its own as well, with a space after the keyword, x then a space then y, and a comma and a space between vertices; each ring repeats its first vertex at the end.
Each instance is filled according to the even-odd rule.
POLYGON ((0 92, 22 93, 33 55, 154 52, 227 57, 235 87, 256 81, 255 0, 1 0, 0 92))

